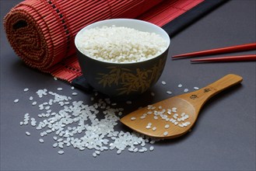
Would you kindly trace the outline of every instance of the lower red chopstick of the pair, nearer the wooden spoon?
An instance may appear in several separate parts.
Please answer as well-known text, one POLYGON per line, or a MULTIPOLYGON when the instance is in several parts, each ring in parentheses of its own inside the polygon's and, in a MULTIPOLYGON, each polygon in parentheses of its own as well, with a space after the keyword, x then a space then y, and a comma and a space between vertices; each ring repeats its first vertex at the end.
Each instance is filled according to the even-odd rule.
POLYGON ((192 59, 191 62, 256 61, 256 54, 226 56, 217 58, 192 59))

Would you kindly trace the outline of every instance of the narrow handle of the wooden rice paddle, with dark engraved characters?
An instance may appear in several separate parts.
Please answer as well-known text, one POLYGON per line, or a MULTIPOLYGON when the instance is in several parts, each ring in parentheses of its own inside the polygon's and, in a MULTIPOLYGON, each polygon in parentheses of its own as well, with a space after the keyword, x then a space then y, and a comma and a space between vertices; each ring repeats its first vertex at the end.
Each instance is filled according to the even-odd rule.
POLYGON ((217 93, 222 92, 224 89, 228 89, 231 86, 237 85, 242 82, 243 78, 239 75, 226 75, 223 78, 213 82, 209 86, 205 86, 202 89, 198 89, 195 92, 189 92, 187 94, 178 96, 181 99, 189 101, 196 110, 200 110, 205 102, 217 93))

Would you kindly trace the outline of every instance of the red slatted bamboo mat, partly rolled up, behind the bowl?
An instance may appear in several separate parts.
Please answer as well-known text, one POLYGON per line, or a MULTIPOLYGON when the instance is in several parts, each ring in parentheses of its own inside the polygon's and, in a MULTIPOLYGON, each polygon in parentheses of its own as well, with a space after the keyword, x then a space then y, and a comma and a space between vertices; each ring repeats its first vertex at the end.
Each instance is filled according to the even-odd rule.
POLYGON ((136 18, 163 26, 205 0, 26 0, 5 16, 7 38, 32 68, 72 82, 82 75, 75 34, 112 18, 136 18))

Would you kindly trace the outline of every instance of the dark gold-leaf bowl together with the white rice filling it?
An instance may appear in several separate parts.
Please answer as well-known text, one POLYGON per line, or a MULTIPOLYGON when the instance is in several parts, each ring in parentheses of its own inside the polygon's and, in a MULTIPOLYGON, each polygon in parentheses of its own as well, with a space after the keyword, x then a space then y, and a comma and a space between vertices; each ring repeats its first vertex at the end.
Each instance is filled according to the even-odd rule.
POLYGON ((107 19, 80 30, 75 47, 90 86, 108 96, 128 97, 146 92, 158 81, 170 37, 153 23, 107 19))

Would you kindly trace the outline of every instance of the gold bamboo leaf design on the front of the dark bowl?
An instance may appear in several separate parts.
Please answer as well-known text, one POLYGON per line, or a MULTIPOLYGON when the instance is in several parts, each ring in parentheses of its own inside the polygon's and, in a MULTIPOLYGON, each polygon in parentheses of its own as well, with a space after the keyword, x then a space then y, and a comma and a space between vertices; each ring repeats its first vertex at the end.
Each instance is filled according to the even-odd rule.
POLYGON ((99 80, 98 83, 103 87, 117 86, 118 95, 128 95, 131 92, 145 92, 153 82, 159 79, 164 64, 164 61, 160 59, 152 68, 136 68, 135 72, 128 68, 110 66, 107 67, 108 73, 98 73, 100 77, 96 79, 99 80))

